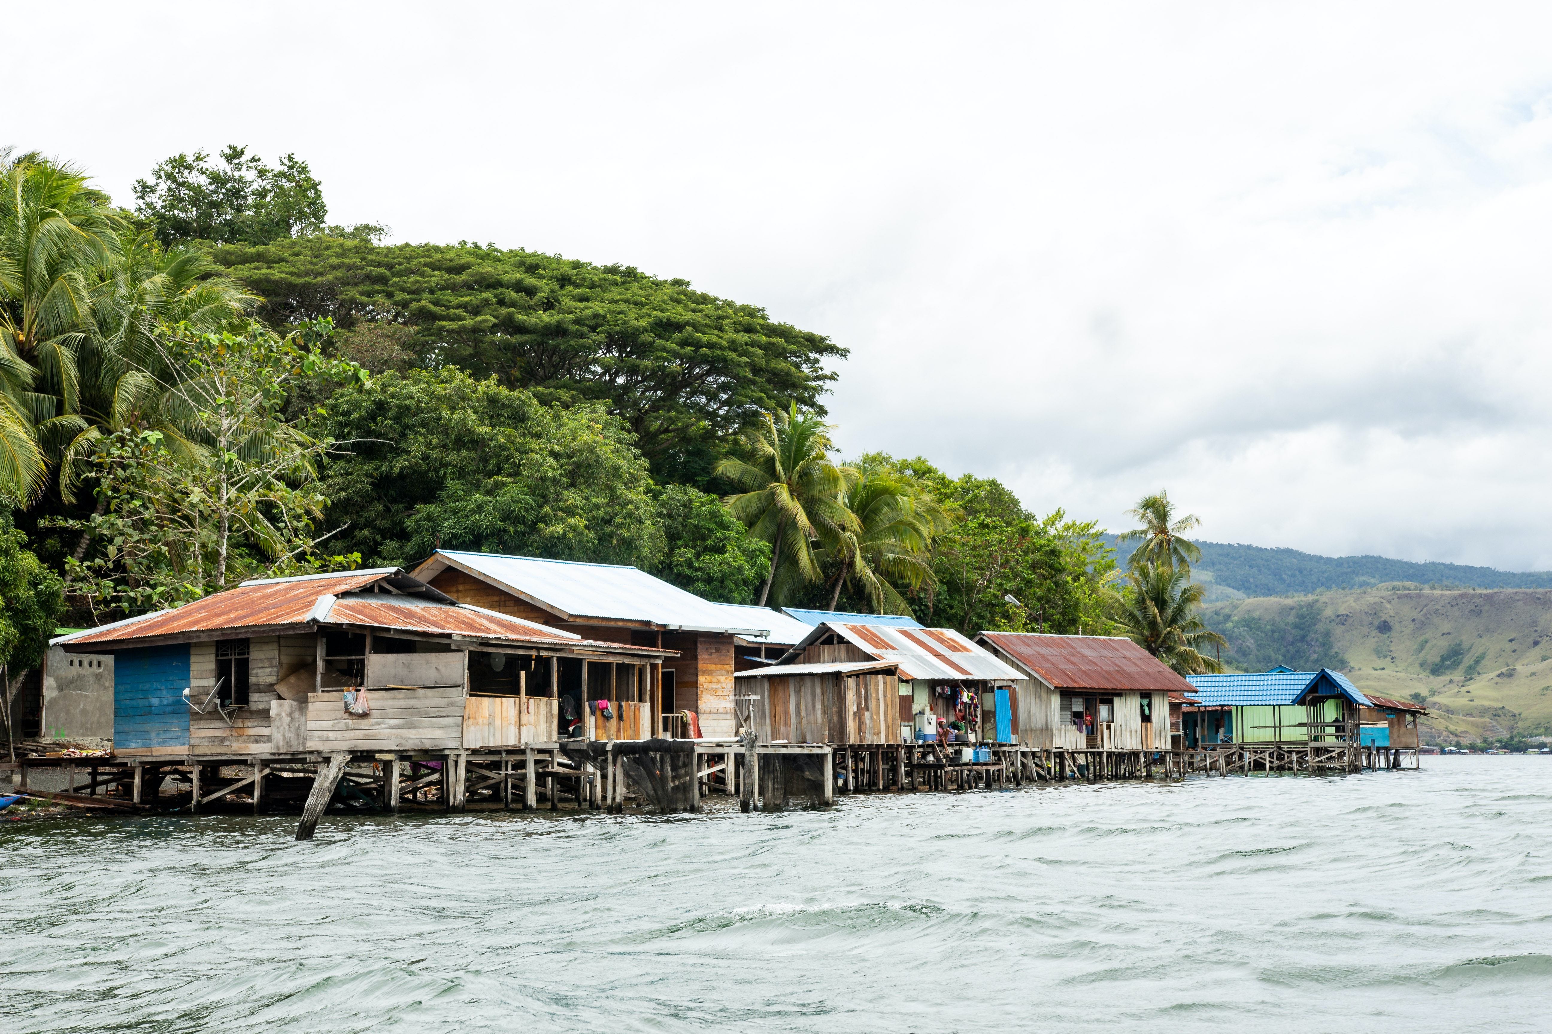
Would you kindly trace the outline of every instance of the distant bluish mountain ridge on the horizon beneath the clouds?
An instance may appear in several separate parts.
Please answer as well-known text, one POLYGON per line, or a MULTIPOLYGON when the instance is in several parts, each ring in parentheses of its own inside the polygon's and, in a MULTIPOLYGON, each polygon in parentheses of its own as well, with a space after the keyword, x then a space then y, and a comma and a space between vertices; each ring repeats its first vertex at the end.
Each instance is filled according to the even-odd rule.
MULTIPOLYGON (((1110 544, 1116 546, 1111 535, 1110 544)), ((1498 570, 1436 561, 1415 563, 1389 557, 1319 557, 1296 549, 1268 549, 1238 543, 1197 543, 1201 563, 1193 564, 1215 598, 1308 594, 1319 589, 1366 589, 1386 581, 1420 586, 1468 586, 1476 589, 1552 589, 1552 570, 1498 570)), ((1116 546, 1122 564, 1131 546, 1116 546)))

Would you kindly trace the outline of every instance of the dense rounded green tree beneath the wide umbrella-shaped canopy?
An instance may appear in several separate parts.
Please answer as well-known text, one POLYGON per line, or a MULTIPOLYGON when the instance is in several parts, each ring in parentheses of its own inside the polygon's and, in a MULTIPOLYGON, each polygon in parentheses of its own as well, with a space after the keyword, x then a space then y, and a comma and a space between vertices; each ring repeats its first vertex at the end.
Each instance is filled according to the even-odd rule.
POLYGON ((337 549, 410 566, 470 549, 652 566, 647 465, 602 406, 546 406, 458 369, 385 374, 314 422, 348 456, 324 470, 337 549))

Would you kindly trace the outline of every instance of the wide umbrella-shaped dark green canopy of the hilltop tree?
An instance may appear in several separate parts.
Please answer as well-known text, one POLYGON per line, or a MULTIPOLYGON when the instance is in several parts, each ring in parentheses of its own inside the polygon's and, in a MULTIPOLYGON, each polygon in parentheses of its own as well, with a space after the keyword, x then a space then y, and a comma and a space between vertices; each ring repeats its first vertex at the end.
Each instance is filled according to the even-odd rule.
POLYGON ((314 236, 225 246, 216 259, 275 326, 332 316, 413 327, 421 367, 458 366, 542 403, 601 403, 667 481, 703 484, 762 412, 823 412, 846 350, 827 338, 629 267, 478 245, 314 236))

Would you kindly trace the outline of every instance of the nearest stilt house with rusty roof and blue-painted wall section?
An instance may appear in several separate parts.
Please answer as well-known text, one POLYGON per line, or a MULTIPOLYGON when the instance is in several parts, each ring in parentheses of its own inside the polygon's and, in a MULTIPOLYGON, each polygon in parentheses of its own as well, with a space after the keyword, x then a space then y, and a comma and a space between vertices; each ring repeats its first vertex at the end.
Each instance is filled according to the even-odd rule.
POLYGON ((584 738, 643 738, 647 671, 672 657, 458 605, 397 567, 247 581, 54 645, 113 656, 115 753, 191 758, 556 743, 568 713, 584 738))

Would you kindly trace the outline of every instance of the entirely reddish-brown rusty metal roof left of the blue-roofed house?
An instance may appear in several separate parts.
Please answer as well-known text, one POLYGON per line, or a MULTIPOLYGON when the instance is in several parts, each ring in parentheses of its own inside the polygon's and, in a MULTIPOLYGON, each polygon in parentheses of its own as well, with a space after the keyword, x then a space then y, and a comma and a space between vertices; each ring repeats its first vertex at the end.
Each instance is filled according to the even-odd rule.
POLYGON ((1044 632, 981 632, 979 639, 1058 690, 1195 691, 1130 639, 1044 632))

